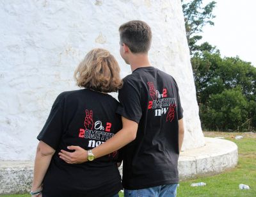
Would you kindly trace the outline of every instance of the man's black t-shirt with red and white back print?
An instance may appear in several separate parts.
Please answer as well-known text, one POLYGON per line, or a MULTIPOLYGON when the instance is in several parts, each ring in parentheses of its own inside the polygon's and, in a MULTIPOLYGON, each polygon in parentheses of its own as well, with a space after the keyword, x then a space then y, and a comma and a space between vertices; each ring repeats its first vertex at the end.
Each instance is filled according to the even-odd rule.
POLYGON ((138 123, 136 139, 122 148, 125 189, 179 181, 179 120, 183 117, 177 83, 154 67, 124 78, 117 113, 138 123))

